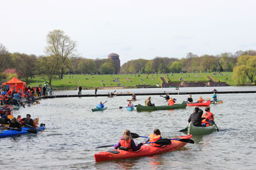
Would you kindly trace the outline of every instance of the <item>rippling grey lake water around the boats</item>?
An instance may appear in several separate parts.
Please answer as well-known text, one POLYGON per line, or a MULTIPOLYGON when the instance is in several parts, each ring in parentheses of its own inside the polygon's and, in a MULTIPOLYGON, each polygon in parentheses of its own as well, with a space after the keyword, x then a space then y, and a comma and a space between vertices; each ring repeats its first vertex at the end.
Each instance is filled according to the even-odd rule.
MULTIPOLYGON (((197 88, 191 90, 195 89, 197 88)), ((231 90, 237 89, 241 87, 231 88, 231 90)), ((159 92, 165 89, 129 89, 131 92, 145 90, 159 92)), ((94 92, 83 90, 82 94, 89 91, 94 92)), ((70 91, 72 92, 76 93, 70 91)), ((67 94, 67 91, 58 93, 67 94)), ((255 96, 255 94, 220 94, 218 97, 223 99, 224 103, 211 104, 211 111, 215 115, 220 131, 193 137, 195 144, 188 143, 180 150, 152 157, 97 163, 93 155, 111 148, 95 149, 95 147, 114 145, 125 129, 141 136, 148 136, 155 128, 161 130, 163 138, 184 135, 179 130, 187 126, 193 107, 138 113, 119 109, 119 106, 127 106, 126 99, 129 99, 127 96, 42 99, 40 104, 15 111, 14 116, 26 117, 29 113, 32 118, 40 117, 39 123, 46 124, 45 132, 1 138, 1 169, 255 169, 255 96), (92 112, 91 109, 99 101, 108 101, 105 104, 108 110, 92 112)), ((137 97, 139 101, 134 104, 144 104, 147 98, 147 96, 137 97)), ((177 103, 188 98, 183 95, 172 97, 177 99, 177 103)), ((205 94, 202 97, 206 99, 212 96, 205 94)), ((199 95, 193 95, 193 99, 198 98, 199 95)), ((166 104, 160 96, 152 96, 152 103, 166 104)), ((134 141, 140 143, 144 139, 138 138, 134 141)))

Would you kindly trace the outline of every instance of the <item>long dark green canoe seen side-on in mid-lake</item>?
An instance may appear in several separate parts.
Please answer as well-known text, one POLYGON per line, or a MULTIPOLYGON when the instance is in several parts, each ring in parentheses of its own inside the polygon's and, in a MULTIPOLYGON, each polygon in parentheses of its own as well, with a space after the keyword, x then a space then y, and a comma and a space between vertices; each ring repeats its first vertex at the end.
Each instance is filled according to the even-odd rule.
POLYGON ((138 104, 137 111, 156 111, 156 110, 175 110, 175 109, 182 109, 186 108, 186 102, 182 102, 180 104, 174 104, 172 106, 164 105, 164 106, 142 106, 138 104))

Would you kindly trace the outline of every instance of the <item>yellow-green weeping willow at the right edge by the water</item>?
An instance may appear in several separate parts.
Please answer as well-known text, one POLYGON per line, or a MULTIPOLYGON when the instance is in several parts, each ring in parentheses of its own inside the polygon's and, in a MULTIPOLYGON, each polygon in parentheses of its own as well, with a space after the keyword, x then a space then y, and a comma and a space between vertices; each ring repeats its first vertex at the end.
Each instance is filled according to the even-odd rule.
POLYGON ((237 59, 236 66, 233 69, 234 81, 238 84, 244 84, 246 78, 253 83, 256 76, 256 55, 241 55, 237 59))

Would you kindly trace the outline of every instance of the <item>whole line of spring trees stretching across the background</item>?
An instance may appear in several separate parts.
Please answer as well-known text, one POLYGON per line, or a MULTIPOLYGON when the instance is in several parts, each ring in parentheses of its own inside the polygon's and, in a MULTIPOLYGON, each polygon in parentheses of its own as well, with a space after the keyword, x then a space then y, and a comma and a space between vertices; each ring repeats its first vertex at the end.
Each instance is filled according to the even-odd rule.
MULTIPOLYGON (((52 78, 63 74, 113 74, 118 72, 111 59, 84 59, 76 53, 76 41, 63 31, 50 31, 47 36, 45 54, 36 56, 26 53, 10 53, 0 43, 0 78, 19 76, 28 83, 29 78, 39 75, 51 85, 52 78)), ((195 71, 233 71, 237 84, 248 78, 255 79, 256 51, 237 51, 220 55, 198 56, 189 52, 186 57, 155 57, 152 60, 136 59, 125 62, 120 73, 180 73, 195 71), (254 64, 254 65, 253 65, 254 64)))

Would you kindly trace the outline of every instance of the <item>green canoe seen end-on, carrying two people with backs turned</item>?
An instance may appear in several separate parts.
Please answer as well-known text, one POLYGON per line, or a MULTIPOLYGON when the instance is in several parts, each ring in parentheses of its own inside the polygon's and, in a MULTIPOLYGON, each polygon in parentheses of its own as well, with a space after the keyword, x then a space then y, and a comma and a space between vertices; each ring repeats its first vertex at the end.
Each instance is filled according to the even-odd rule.
POLYGON ((198 127, 194 126, 192 124, 189 125, 188 127, 188 134, 193 134, 193 135, 204 135, 204 134, 211 134, 212 131, 216 129, 215 125, 209 125, 206 127, 198 127))

